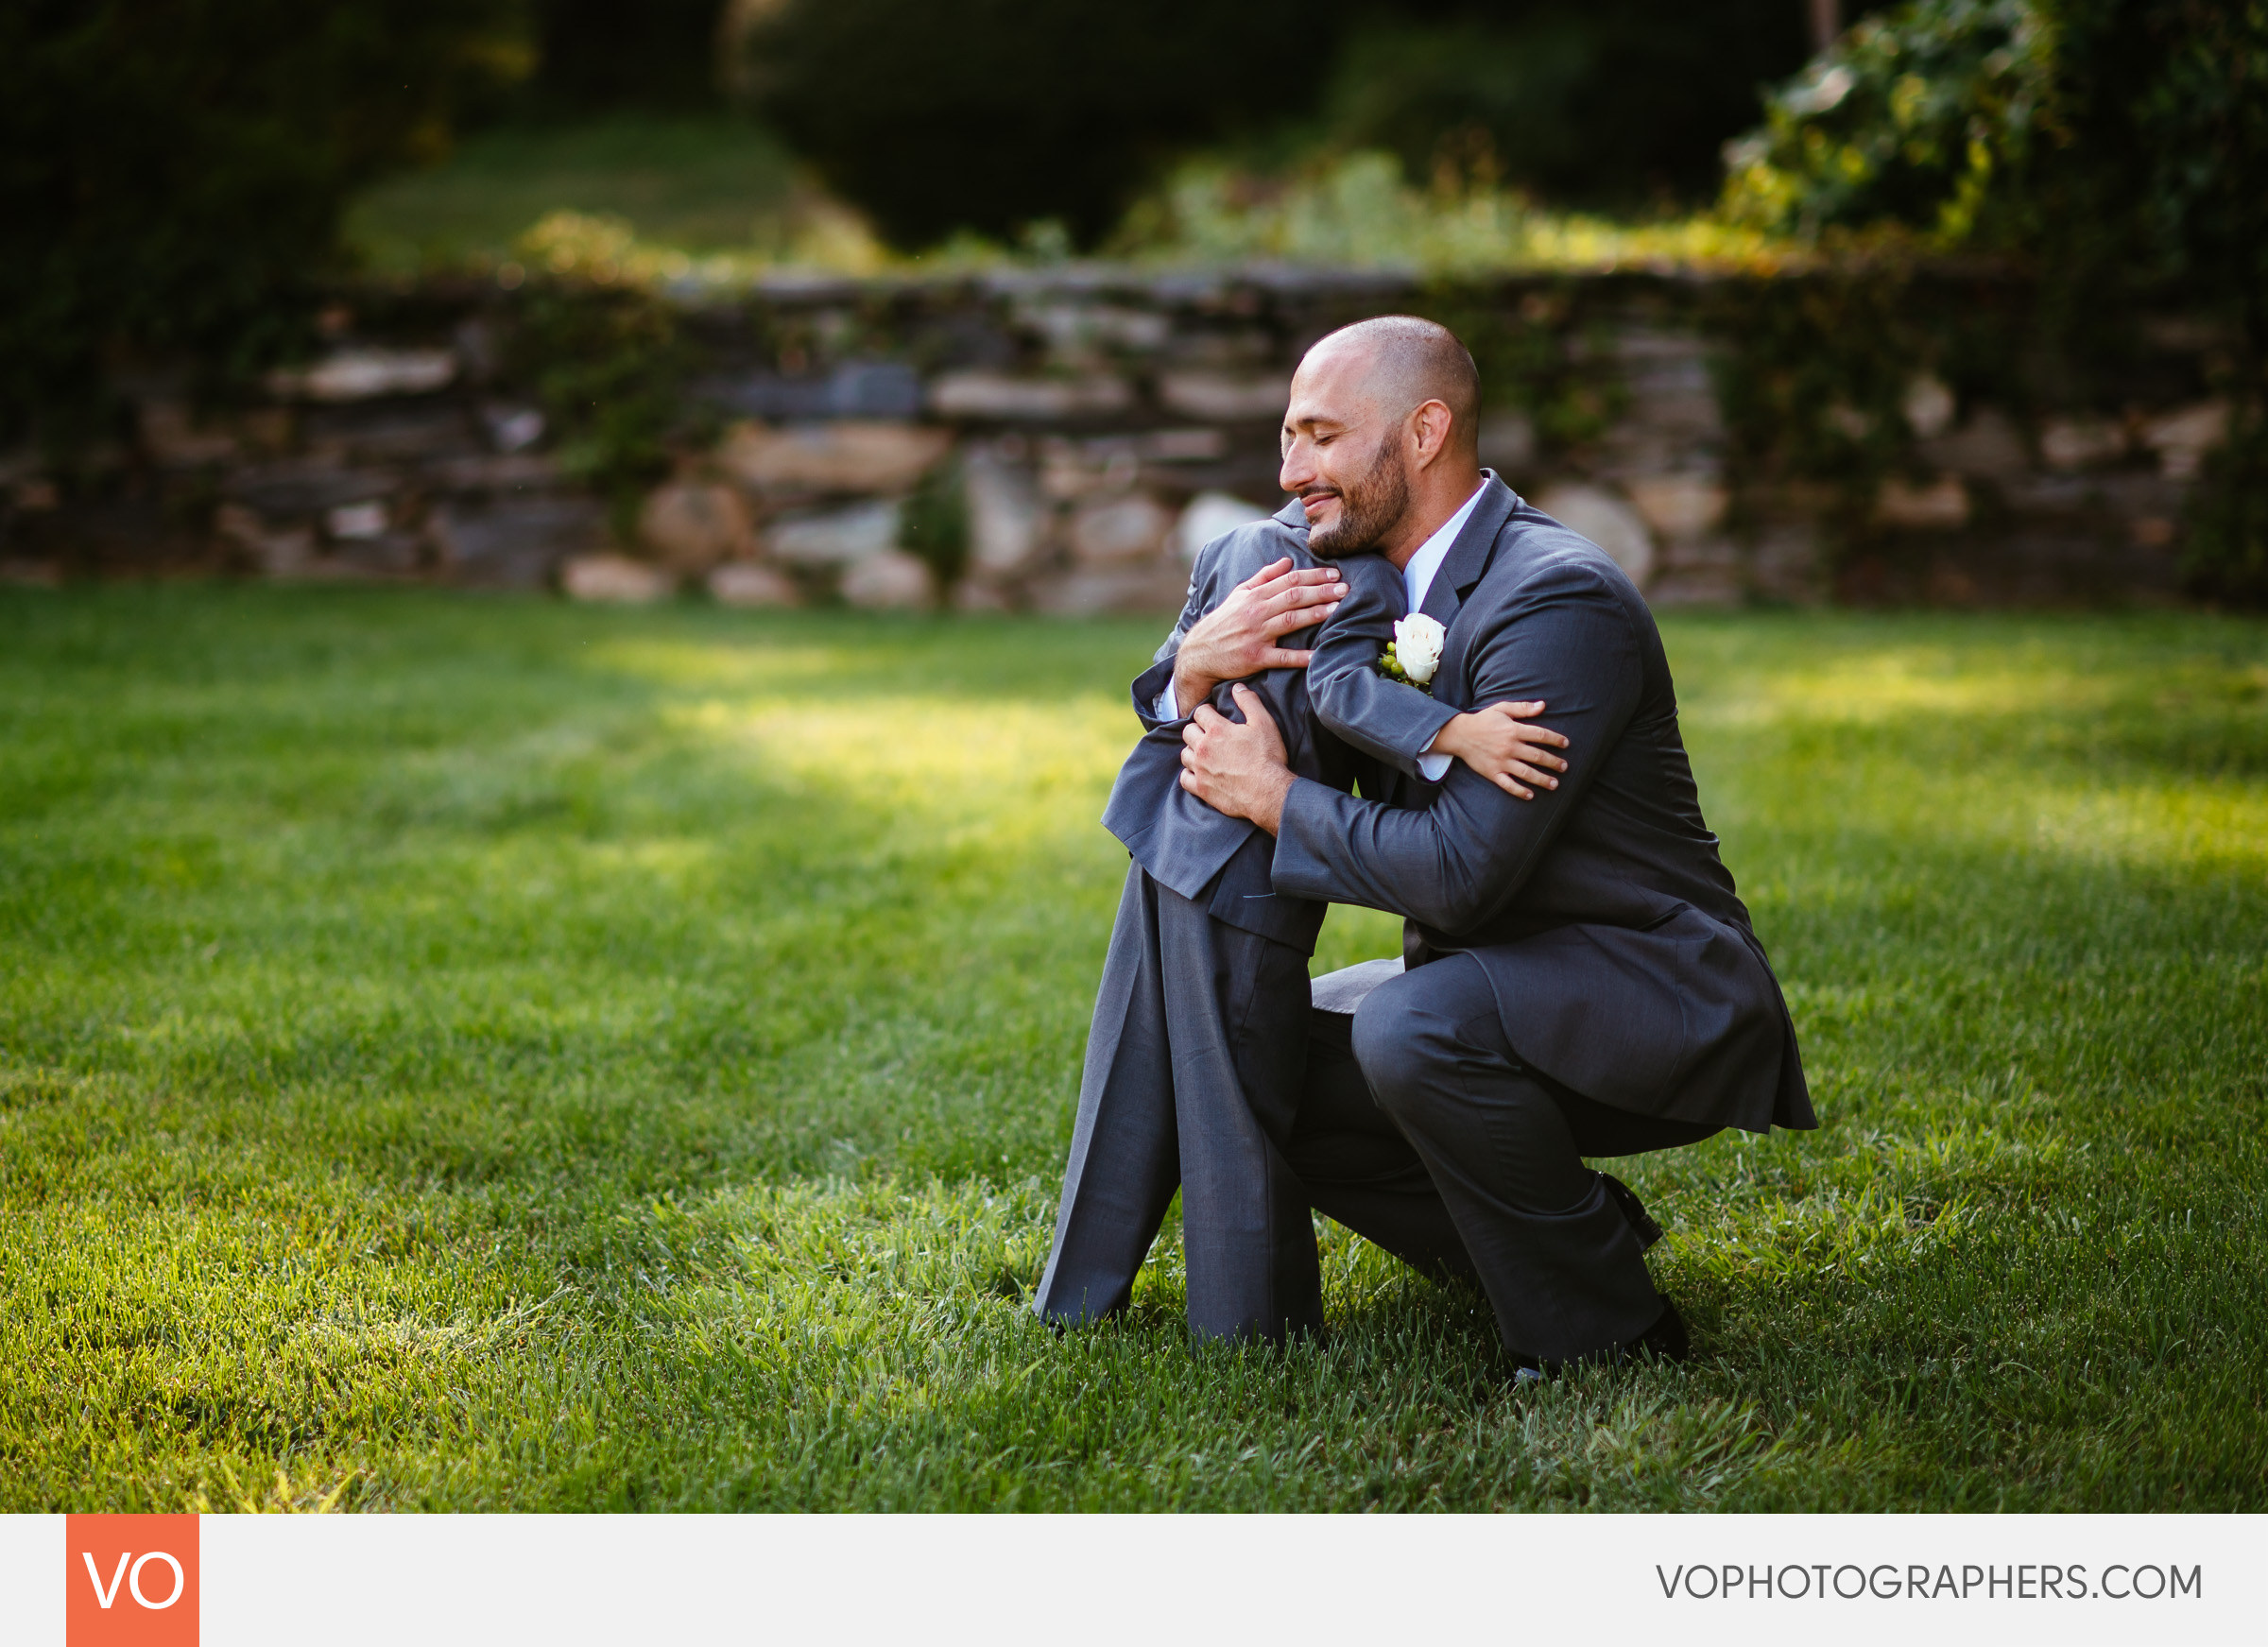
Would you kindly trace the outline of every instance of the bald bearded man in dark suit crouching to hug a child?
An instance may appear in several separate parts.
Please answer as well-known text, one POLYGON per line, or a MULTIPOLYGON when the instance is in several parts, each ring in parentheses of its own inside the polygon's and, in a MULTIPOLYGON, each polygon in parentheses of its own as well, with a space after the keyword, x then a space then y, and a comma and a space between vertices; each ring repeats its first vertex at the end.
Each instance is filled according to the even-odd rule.
POLYGON ((1653 617, 1597 544, 1481 470, 1476 408, 1442 327, 1347 327, 1293 379, 1281 483, 1313 551, 1381 556, 1445 626, 1433 706, 1545 703, 1565 776, 1524 803, 1438 751, 1356 737, 1379 774, 1356 799, 1290 769, 1256 696, 1229 690, 1243 719, 1204 703, 1225 665, 1191 633, 1184 783, 1272 837, 1277 896, 1404 917, 1399 964, 1315 980, 1284 1139, 1313 1205, 1476 1275, 1522 1372, 1683 1357, 1642 1259, 1658 1230, 1583 1157, 1817 1121, 1653 617))

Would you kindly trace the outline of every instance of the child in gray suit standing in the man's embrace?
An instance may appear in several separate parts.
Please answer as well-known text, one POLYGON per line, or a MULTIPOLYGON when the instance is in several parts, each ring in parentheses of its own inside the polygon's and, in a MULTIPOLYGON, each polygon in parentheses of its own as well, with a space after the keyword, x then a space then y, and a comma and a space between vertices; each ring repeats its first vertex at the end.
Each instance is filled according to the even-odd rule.
MULTIPOLYGON (((1306 960, 1327 905, 1279 896, 1275 839, 1182 787, 1186 715, 1161 701, 1179 637, 1238 583, 1281 560, 1322 565, 1295 515, 1238 526, 1200 551, 1188 603, 1134 683, 1145 730, 1102 814, 1134 862, 1095 1000, 1055 1250, 1034 1298, 1055 1323, 1125 1307, 1179 1189, 1195 1336, 1277 1341, 1322 1325, 1309 1196, 1281 1143, 1300 1105, 1306 960)), ((1404 617, 1402 572, 1374 554, 1334 565, 1347 583, 1338 610, 1281 642, 1311 649, 1311 665, 1238 683, 1268 706, 1293 771, 1345 792, 1365 760, 1420 776, 1424 758, 1447 755, 1522 799, 1522 776, 1556 783, 1549 769, 1563 762, 1549 751, 1565 740, 1526 724, 1538 706, 1461 715, 1379 674, 1404 617)), ((1211 703, 1243 719, 1229 685, 1211 703)))

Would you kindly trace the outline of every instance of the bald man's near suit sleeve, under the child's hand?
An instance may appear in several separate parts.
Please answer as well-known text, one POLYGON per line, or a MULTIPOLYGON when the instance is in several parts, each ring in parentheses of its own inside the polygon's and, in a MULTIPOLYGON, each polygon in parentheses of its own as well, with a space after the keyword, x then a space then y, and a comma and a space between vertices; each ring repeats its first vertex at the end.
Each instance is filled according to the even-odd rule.
POLYGON ((1637 635, 1597 574, 1569 569, 1522 592, 1476 644, 1472 685, 1474 703, 1551 706, 1549 726, 1569 737, 1560 787, 1515 801, 1458 762, 1433 805, 1415 812, 1295 778, 1277 833, 1277 892, 1388 910, 1438 932, 1472 930, 1510 903, 1637 710, 1637 635))

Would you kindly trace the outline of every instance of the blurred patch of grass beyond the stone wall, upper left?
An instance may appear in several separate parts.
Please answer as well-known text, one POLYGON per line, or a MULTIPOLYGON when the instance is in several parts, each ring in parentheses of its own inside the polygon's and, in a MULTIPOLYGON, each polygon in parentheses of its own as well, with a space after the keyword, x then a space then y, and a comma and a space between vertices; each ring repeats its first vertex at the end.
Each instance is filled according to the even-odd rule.
POLYGON ((347 240, 381 272, 415 272, 510 256, 547 213, 581 211, 683 252, 776 250, 794 197, 787 152, 755 125, 615 116, 472 136, 354 202, 347 240))

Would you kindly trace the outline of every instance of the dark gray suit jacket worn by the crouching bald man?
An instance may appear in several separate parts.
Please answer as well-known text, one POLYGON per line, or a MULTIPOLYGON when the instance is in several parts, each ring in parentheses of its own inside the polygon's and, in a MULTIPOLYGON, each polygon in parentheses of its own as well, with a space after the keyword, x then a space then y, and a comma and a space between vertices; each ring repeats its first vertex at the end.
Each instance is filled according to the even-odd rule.
MULTIPOLYGON (((1465 951, 1506 1039, 1633 1114, 1810 1127, 1794 1023, 1701 817, 1644 599, 1590 540, 1490 479, 1427 590, 1447 626, 1433 701, 1545 699, 1558 789, 1517 801, 1454 765, 1383 801, 1300 780, 1275 887, 1406 917, 1404 960, 1465 951)), ((1368 792, 1368 785, 1365 785, 1368 792)))

